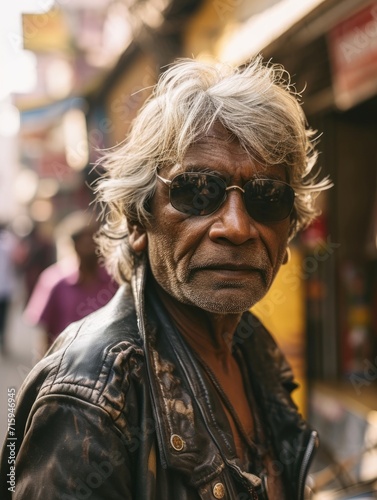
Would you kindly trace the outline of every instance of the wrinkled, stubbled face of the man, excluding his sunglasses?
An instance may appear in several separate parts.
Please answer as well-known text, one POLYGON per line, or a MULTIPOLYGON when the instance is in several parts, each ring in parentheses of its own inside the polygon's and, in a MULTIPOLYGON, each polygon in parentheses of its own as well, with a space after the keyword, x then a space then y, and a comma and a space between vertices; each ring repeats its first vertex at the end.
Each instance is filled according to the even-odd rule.
MULTIPOLYGON (((256 176, 286 181, 281 166, 261 167, 250 160, 219 124, 193 144, 182 164, 160 174, 172 179, 192 170, 210 169, 243 186, 256 176)), ((214 213, 186 215, 169 202, 169 188, 158 182, 147 227, 152 273, 180 302, 212 313, 240 313, 258 302, 269 289, 285 255, 289 218, 273 223, 254 221, 242 192, 230 190, 214 213)))

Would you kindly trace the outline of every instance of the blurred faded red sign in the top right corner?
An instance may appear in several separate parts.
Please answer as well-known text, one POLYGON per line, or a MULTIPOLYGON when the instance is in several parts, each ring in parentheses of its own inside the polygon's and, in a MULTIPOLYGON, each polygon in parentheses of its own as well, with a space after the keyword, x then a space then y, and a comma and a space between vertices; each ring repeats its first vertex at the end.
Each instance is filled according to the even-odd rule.
POLYGON ((348 109, 377 93, 377 2, 328 35, 335 103, 348 109))

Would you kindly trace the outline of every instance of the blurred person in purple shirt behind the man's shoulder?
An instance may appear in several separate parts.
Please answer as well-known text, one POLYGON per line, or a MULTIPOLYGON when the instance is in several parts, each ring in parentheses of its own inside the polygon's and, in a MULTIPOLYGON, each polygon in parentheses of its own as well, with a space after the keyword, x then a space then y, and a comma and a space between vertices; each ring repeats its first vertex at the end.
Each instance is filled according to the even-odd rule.
POLYGON ((118 288, 100 265, 93 240, 98 225, 86 217, 76 220, 70 237, 77 259, 45 269, 24 311, 28 323, 45 330, 47 347, 69 324, 107 304, 118 288))

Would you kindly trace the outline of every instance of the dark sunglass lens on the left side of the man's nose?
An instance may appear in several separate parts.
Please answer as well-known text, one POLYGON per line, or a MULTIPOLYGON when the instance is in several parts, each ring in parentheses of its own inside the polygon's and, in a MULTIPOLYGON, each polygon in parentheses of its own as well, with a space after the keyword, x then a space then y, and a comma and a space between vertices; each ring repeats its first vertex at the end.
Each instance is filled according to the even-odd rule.
POLYGON ((170 185, 170 203, 184 214, 208 215, 223 202, 225 188, 224 180, 215 175, 180 174, 170 185))

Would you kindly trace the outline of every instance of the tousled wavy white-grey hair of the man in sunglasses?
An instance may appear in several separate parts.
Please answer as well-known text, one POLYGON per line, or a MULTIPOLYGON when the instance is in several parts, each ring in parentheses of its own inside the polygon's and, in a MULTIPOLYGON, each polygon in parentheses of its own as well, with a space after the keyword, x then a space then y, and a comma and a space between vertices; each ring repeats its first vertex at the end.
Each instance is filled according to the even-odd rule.
POLYGON ((184 59, 161 77, 126 140, 100 160, 96 185, 104 225, 97 235, 108 269, 128 281, 133 255, 127 221, 145 225, 148 201, 163 165, 182 161, 187 148, 215 122, 233 133, 252 160, 283 165, 296 192, 290 238, 318 215, 314 200, 331 187, 313 173, 315 131, 307 126, 300 94, 280 65, 257 57, 246 67, 184 59))

